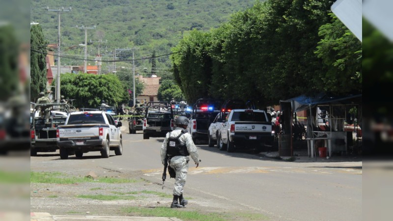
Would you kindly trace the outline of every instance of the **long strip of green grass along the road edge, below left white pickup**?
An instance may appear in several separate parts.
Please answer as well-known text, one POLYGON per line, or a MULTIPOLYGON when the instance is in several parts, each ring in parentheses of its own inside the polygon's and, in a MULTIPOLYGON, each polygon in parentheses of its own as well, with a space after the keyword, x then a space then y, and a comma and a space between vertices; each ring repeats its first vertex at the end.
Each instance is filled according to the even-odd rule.
POLYGON ((87 177, 69 176, 60 172, 30 172, 30 183, 55 183, 55 184, 74 184, 74 183, 136 183, 139 180, 123 179, 116 177, 98 177, 96 180, 87 177))

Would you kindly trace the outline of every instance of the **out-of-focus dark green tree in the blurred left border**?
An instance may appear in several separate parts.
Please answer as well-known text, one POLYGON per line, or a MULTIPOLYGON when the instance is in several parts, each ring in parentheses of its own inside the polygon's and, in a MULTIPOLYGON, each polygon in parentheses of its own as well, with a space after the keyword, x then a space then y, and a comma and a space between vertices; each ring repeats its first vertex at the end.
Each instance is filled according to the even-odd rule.
POLYGON ((0 25, 0 100, 4 101, 18 89, 19 44, 11 25, 0 25))

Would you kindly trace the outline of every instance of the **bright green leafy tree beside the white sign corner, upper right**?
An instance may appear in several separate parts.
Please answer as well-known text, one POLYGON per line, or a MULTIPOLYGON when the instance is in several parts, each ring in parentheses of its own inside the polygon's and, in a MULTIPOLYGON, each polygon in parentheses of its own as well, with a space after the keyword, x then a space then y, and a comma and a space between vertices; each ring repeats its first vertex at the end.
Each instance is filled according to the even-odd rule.
POLYGON ((326 72, 314 77, 315 84, 335 94, 361 93, 362 43, 331 13, 331 23, 319 28, 315 54, 321 58, 326 72))

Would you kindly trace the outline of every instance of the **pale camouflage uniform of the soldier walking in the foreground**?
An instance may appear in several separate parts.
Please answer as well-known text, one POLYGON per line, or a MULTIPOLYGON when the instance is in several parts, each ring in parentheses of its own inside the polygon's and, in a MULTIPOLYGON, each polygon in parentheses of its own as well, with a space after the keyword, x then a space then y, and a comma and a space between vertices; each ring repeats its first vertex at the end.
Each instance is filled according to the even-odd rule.
MULTIPOLYGON (((170 137, 175 138, 182 133, 182 128, 176 127, 174 131, 171 132, 170 137)), ((165 157, 167 155, 167 142, 169 138, 169 133, 167 133, 164 143, 161 146, 161 161, 164 164, 165 157)), ((179 138, 182 144, 186 144, 187 150, 190 153, 190 157, 196 164, 199 164, 199 156, 198 150, 195 146, 193 139, 189 133, 183 134, 179 138)), ((188 162, 190 161, 190 157, 184 156, 174 156, 169 162, 169 166, 172 167, 176 171, 175 185, 173 189, 173 195, 182 195, 183 188, 186 184, 187 172, 188 172, 188 162)))

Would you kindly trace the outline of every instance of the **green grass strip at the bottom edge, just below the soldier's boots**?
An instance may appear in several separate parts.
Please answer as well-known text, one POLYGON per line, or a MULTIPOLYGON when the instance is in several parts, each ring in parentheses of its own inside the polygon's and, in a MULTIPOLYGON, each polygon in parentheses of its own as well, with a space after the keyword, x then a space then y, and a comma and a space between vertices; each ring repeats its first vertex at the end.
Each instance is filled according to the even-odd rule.
POLYGON ((123 212, 131 216, 142 217, 176 217, 185 221, 227 221, 228 215, 219 213, 199 213, 197 211, 186 211, 182 209, 170 209, 169 207, 156 208, 139 208, 127 207, 122 209, 123 212))

